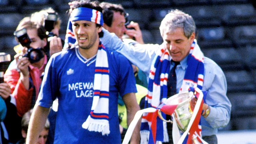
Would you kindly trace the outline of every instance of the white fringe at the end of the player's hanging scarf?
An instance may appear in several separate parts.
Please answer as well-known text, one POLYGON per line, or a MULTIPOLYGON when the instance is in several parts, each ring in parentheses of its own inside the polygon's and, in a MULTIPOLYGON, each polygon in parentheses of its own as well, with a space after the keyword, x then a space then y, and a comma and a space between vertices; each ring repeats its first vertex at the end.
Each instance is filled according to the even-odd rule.
MULTIPOLYGON (((91 119, 91 117, 88 117, 87 119, 91 119)), ((101 120, 101 123, 86 120, 83 123, 82 127, 89 131, 101 132, 102 135, 108 135, 110 133, 109 124, 107 120, 101 120)))

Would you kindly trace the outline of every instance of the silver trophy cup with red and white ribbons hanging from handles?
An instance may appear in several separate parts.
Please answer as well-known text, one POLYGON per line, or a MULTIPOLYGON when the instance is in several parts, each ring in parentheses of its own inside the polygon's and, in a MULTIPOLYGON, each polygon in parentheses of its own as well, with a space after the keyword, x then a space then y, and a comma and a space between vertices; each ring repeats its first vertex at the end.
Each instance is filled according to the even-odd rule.
MULTIPOLYGON (((201 110, 203 105, 203 92, 199 88, 195 88, 195 91, 186 91, 181 92, 176 95, 171 96, 167 100, 165 100, 164 105, 161 108, 146 108, 139 110, 135 116, 133 121, 131 122, 130 126, 127 129, 126 135, 123 140, 123 144, 128 144, 133 129, 135 125, 137 124, 139 118, 143 113, 153 113, 157 111, 158 116, 161 120, 165 122, 171 122, 175 125, 177 125, 177 132, 175 133, 178 135, 177 139, 173 139, 174 143, 182 144, 185 140, 186 136, 189 136, 191 139, 190 143, 193 144, 208 144, 205 142, 201 136, 196 131, 190 131, 190 128, 192 126, 198 126, 199 119, 201 117, 201 110), (196 104, 193 104, 194 101, 196 101, 196 104), (169 106, 174 106, 172 110, 170 110, 169 106), (163 109, 163 107, 165 107, 163 109), (166 120, 163 118, 161 112, 165 114, 170 114, 173 117, 172 120, 166 120)), ((174 133, 174 132, 173 132, 174 133)), ((173 137, 174 138, 174 137, 173 137)))

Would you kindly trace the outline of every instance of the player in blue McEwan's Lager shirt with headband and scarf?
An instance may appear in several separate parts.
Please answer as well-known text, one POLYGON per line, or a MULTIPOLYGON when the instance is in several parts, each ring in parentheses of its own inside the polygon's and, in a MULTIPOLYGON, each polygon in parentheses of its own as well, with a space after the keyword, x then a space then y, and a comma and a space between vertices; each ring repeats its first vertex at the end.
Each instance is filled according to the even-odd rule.
MULTIPOLYGON (((27 143, 36 142, 55 98, 58 113, 54 143, 121 143, 118 92, 127 107, 128 124, 139 110, 132 68, 127 67, 129 61, 124 56, 101 44, 103 18, 97 1, 79 1, 71 8, 70 22, 77 43, 54 54, 48 62, 27 143)), ((131 143, 139 140, 138 124, 131 143)))

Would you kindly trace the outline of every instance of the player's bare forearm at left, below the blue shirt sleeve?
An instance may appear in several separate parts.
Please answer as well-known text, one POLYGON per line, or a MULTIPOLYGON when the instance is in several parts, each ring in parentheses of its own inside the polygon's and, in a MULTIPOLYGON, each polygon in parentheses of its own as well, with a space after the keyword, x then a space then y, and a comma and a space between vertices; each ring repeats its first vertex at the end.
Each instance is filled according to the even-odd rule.
POLYGON ((37 143, 39 134, 45 126, 49 112, 50 108, 35 105, 28 125, 26 144, 37 143))

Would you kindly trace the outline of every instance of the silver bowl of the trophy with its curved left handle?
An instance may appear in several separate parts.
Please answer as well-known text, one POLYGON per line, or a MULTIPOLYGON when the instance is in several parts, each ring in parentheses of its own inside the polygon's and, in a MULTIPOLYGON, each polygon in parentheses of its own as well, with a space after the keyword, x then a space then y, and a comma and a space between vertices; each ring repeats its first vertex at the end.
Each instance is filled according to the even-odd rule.
MULTIPOLYGON (((180 131, 185 132, 187 130, 189 121, 193 114, 192 98, 193 92, 183 92, 168 98, 164 103, 165 105, 177 105, 174 110, 174 118, 180 131)), ((165 122, 172 122, 171 120, 165 120, 162 117, 161 111, 158 110, 159 117, 165 122)))

